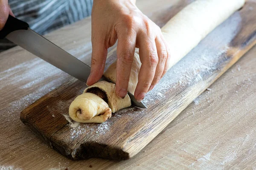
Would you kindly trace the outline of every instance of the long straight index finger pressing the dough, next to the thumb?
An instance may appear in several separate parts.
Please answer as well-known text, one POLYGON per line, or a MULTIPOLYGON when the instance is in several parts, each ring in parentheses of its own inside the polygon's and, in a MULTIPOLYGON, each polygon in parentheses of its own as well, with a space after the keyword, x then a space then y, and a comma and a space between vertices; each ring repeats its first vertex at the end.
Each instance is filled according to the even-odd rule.
POLYGON ((116 94, 124 98, 127 94, 131 65, 136 46, 136 32, 118 32, 116 61, 116 94))

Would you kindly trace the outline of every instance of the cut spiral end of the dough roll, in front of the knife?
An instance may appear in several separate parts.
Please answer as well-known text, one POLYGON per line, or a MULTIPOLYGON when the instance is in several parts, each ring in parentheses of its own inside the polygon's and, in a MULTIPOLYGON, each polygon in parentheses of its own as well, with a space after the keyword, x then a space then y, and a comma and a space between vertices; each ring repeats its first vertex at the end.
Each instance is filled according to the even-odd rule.
POLYGON ((122 108, 131 106, 128 94, 124 99, 116 96, 116 85, 101 81, 86 88, 69 108, 70 118, 81 123, 102 123, 122 108))

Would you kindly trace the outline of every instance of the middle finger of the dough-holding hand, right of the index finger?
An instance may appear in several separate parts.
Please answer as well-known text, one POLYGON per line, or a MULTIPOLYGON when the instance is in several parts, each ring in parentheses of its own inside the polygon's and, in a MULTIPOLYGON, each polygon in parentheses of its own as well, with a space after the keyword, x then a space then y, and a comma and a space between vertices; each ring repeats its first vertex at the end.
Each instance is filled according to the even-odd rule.
POLYGON ((134 92, 138 102, 144 99, 145 94, 151 86, 154 79, 158 63, 157 48, 154 39, 139 38, 140 43, 140 61, 142 62, 139 81, 134 92))

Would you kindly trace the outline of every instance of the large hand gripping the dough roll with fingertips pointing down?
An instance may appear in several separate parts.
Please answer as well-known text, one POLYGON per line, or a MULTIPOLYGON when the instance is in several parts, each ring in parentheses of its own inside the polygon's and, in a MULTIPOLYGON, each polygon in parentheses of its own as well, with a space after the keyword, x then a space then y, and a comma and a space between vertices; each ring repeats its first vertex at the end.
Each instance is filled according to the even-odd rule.
POLYGON ((116 94, 127 94, 135 47, 140 48, 139 82, 134 96, 141 101, 166 73, 169 50, 160 28, 136 6, 135 0, 94 0, 92 60, 87 84, 103 75, 108 48, 117 43, 116 94))

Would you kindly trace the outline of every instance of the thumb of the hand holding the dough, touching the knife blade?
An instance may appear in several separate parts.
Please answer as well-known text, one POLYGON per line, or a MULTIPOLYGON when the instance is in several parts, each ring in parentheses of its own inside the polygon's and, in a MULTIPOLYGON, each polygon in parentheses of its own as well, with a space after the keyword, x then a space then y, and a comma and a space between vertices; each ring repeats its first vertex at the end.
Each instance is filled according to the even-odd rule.
POLYGON ((87 85, 93 85, 102 77, 108 54, 105 40, 102 40, 100 37, 92 36, 92 47, 91 71, 90 76, 87 79, 87 85))

